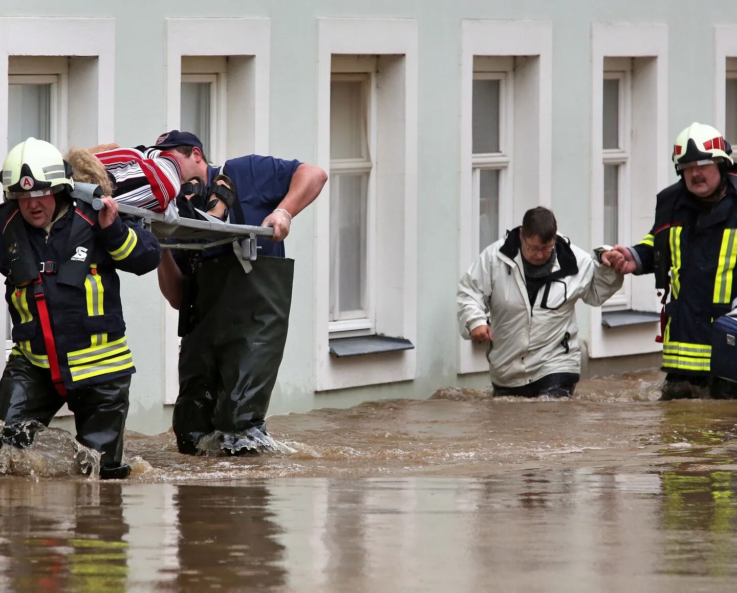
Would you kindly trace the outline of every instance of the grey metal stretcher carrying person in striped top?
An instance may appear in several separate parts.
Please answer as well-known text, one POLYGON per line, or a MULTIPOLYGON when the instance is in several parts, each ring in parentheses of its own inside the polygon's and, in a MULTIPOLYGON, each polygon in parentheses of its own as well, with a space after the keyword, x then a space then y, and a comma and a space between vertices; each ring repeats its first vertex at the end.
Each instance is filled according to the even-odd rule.
MULTIPOLYGON (((94 196, 88 188, 91 185, 77 182, 74 184, 74 199, 87 202, 95 210, 105 207, 101 199, 94 196), (82 190, 82 191, 78 191, 82 190)), ((92 186, 96 188, 97 186, 92 186)), ((258 237, 272 237, 272 227, 253 227, 248 224, 230 224, 216 219, 207 213, 197 210, 202 220, 187 219, 179 216, 178 210, 171 202, 164 213, 153 212, 145 208, 118 203, 120 213, 132 216, 144 229, 149 230, 158 239, 164 249, 209 249, 218 245, 227 245, 238 241, 241 258, 245 261, 256 260, 258 237)))

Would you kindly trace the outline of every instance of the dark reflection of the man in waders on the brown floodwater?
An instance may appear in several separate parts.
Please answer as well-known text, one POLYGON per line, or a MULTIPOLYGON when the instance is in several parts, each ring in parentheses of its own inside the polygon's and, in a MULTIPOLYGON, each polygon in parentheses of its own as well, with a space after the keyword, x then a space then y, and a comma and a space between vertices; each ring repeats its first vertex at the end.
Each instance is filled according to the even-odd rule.
POLYGON ((178 590, 284 584, 282 528, 270 497, 266 486, 178 486, 178 590))

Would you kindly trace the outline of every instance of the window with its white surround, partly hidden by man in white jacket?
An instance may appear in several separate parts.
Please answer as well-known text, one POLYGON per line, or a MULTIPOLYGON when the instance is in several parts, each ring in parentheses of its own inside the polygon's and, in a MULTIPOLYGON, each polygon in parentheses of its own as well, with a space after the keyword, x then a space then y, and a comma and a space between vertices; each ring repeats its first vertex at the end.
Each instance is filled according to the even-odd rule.
MULTIPOLYGON (((458 278, 550 205, 552 45, 550 23, 461 21, 458 278)), ((458 373, 489 372, 485 350, 458 336, 458 373)))

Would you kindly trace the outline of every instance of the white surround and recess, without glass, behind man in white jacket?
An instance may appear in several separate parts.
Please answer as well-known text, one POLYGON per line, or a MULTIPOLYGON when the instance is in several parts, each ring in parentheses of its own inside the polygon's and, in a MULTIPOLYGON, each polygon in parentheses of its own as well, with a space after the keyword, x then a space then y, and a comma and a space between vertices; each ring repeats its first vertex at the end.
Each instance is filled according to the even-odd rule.
MULTIPOLYGON (((530 171, 511 177, 511 208, 500 188, 500 227, 507 230, 531 207, 551 205, 552 167, 552 56, 553 25, 548 21, 461 21, 461 171, 458 278, 478 257, 478 202, 473 193, 472 90, 474 58, 509 57, 514 68, 513 121, 510 130, 511 163, 514 155, 532 161, 530 171), (505 210, 506 207, 506 210, 505 210)), ((486 68, 483 68, 486 69, 486 68)), ((509 90, 511 93, 511 88, 509 90)), ((458 337, 458 373, 488 372, 483 347, 458 337)))

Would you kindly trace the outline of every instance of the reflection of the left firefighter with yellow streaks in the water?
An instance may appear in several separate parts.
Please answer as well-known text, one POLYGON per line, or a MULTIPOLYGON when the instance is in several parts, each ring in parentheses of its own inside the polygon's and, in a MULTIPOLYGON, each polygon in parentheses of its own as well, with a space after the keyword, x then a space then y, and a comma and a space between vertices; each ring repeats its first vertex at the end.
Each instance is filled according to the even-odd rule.
POLYGON ((4 481, 4 591, 123 592, 128 525, 119 484, 4 481))

